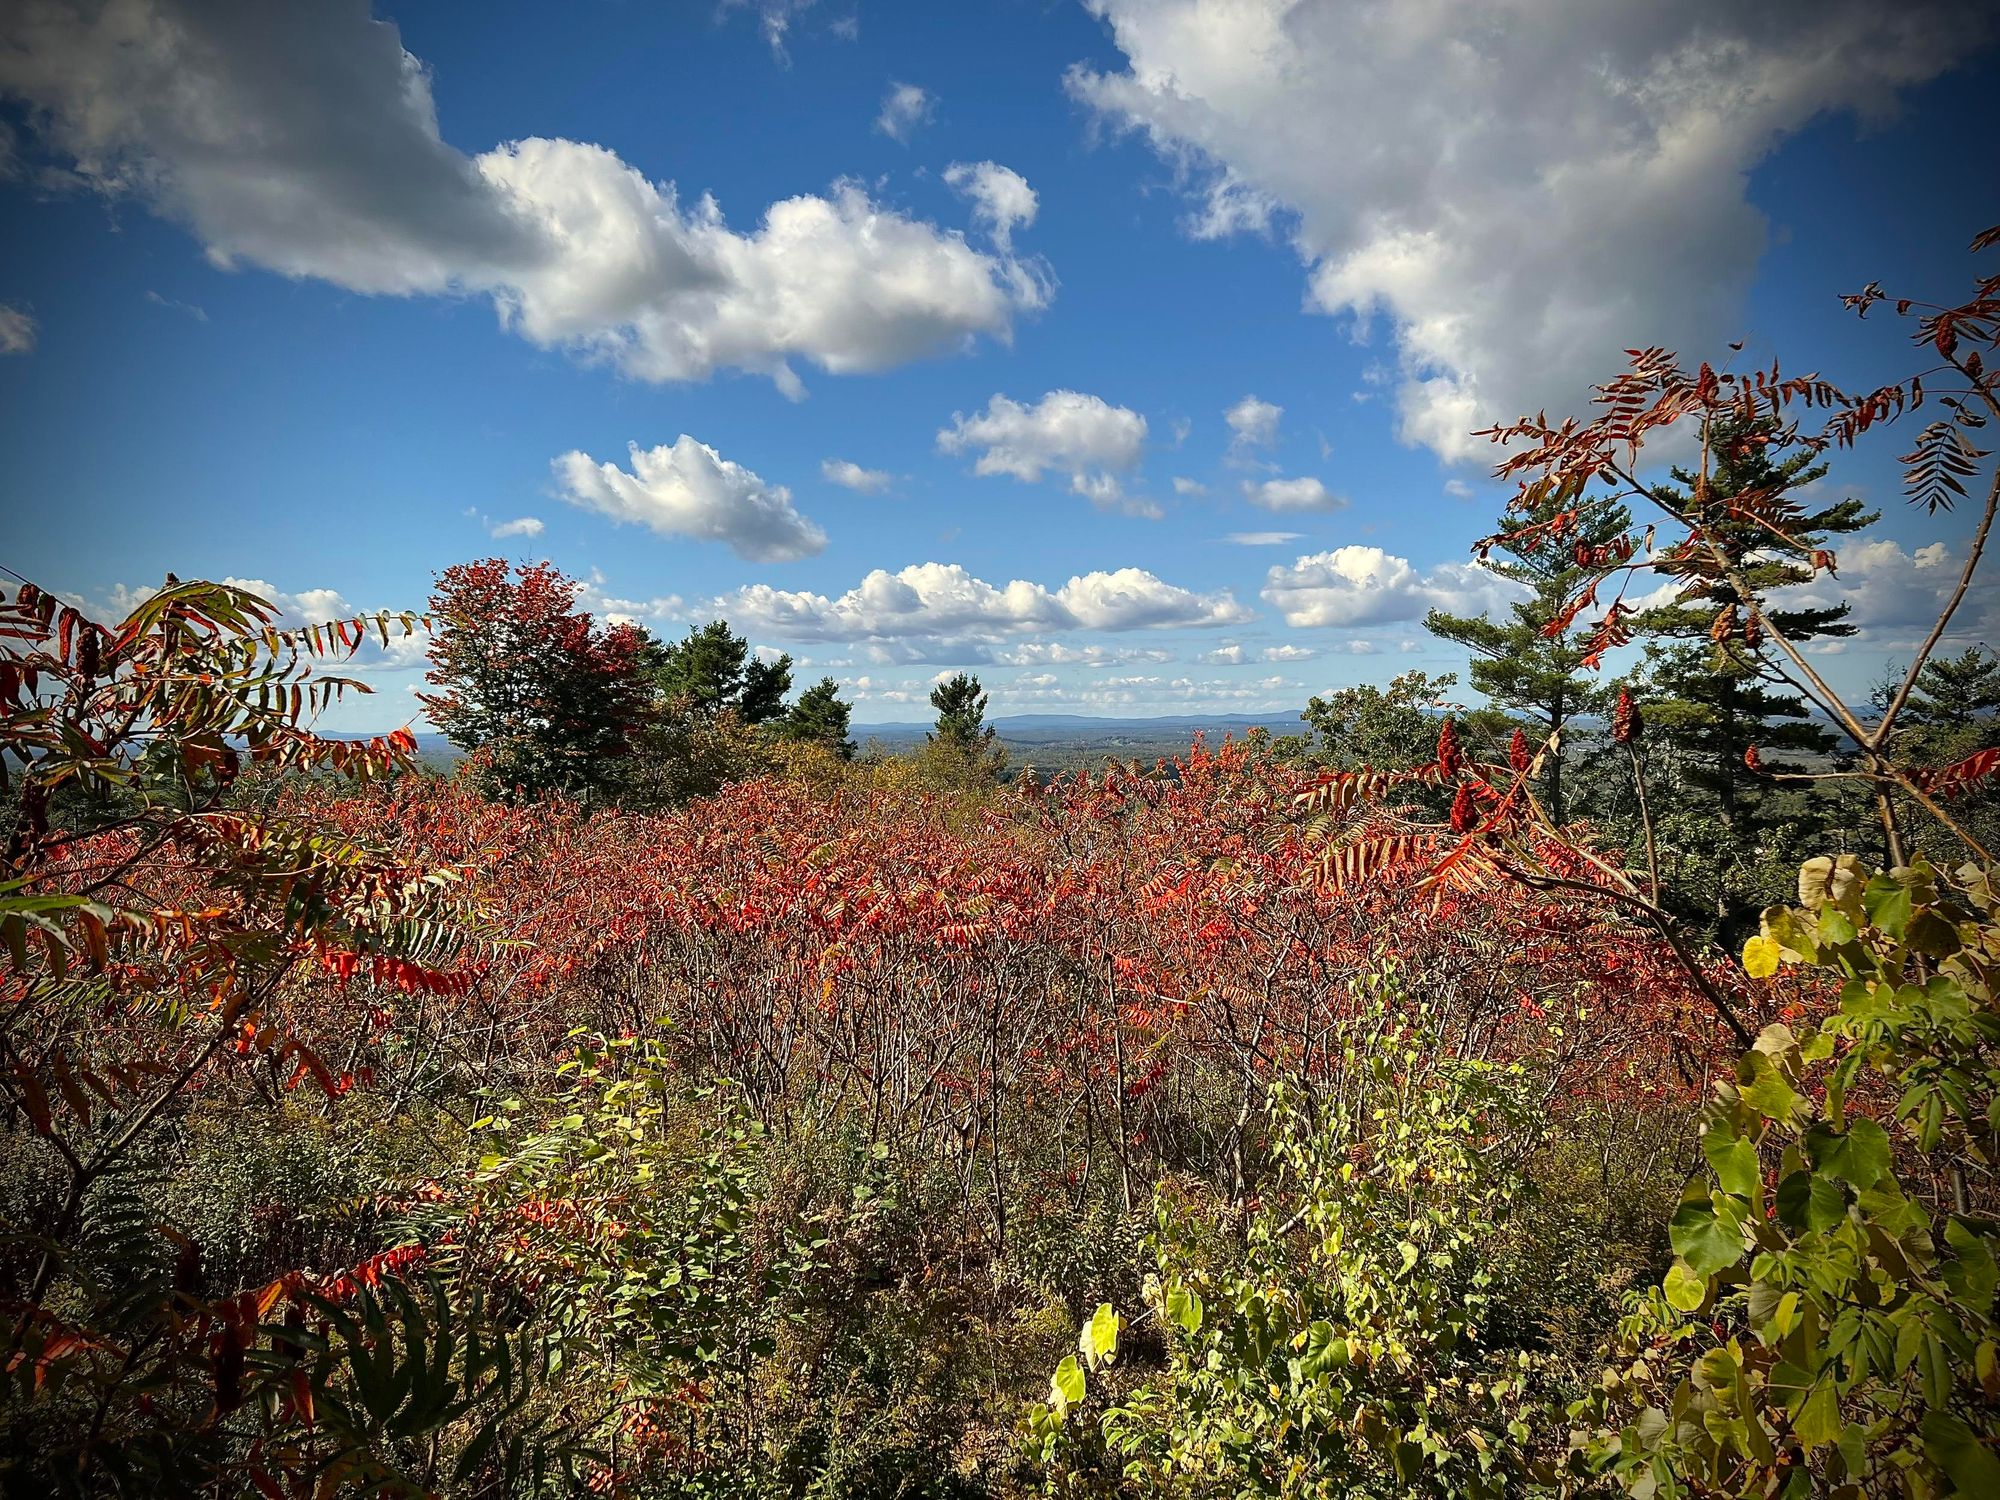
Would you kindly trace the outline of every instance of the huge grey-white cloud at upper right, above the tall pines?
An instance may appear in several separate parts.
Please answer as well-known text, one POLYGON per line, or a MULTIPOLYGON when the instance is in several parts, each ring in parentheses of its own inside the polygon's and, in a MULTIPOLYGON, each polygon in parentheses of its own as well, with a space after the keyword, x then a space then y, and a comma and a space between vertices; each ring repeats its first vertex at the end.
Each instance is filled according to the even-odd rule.
POLYGON ((1400 432, 1448 458, 1628 346, 1734 338, 1748 170, 1994 32, 1986 0, 1086 4, 1126 66, 1072 94, 1174 162, 1194 234, 1282 226, 1314 306, 1386 318, 1400 432))

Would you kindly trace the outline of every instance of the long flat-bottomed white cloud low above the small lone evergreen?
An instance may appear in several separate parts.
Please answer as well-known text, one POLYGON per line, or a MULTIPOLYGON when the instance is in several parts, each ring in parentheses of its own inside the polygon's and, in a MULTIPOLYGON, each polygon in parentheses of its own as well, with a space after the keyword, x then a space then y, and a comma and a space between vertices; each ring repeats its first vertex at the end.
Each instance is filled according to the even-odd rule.
POLYGON ((1196 594, 1142 568, 1088 572, 1062 588, 1016 578, 988 584, 958 564, 876 568, 838 598, 750 584, 714 600, 738 628, 778 640, 898 640, 1030 630, 1168 630, 1238 624, 1250 612, 1228 592, 1196 594))

